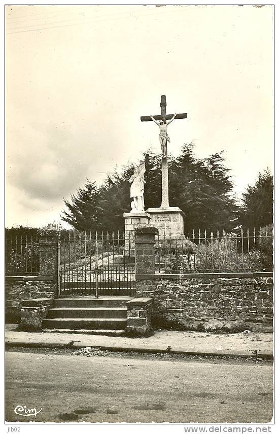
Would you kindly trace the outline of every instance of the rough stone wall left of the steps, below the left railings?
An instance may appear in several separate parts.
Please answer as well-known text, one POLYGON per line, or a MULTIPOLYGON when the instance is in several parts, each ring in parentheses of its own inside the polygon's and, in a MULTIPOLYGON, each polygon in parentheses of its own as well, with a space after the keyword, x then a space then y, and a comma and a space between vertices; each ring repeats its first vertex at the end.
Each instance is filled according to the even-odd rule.
POLYGON ((5 321, 20 322, 21 302, 54 298, 57 282, 53 276, 11 276, 5 278, 5 321))

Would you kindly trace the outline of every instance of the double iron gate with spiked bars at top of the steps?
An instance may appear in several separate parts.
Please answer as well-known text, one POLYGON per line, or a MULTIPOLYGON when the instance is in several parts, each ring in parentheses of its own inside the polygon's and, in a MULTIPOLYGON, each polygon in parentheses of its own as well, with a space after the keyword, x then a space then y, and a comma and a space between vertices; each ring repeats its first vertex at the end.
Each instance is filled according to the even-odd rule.
POLYGON ((58 241, 60 296, 134 295, 134 240, 125 233, 68 231, 58 241))

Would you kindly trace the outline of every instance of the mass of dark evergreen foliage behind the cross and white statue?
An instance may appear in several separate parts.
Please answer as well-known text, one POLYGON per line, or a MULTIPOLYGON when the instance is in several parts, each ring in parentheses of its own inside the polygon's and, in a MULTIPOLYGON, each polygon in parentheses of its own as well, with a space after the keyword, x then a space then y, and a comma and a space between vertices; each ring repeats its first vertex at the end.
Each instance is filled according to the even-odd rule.
MULTIPOLYGON (((161 157, 152 150, 143 154, 146 164, 145 209, 161 205, 161 157)), ((194 154, 193 145, 184 145, 177 158, 169 158, 169 204, 179 207, 186 214, 185 233, 230 230, 238 217, 238 208, 232 194, 230 170, 224 165, 223 152, 200 159, 194 154)), ((64 199, 67 210, 61 217, 78 230, 111 231, 124 229, 124 212, 130 212, 129 178, 133 166, 123 166, 121 174, 116 170, 107 176, 97 188, 86 181, 71 201, 64 199)))

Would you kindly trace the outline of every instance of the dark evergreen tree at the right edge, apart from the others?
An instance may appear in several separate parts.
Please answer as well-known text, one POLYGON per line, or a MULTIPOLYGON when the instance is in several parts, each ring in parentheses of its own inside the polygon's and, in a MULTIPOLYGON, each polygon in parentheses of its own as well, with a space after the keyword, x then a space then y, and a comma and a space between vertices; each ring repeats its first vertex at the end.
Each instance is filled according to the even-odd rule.
POLYGON ((267 169, 259 172, 254 186, 248 185, 243 193, 243 208, 239 223, 250 230, 259 230, 273 221, 273 176, 267 169))

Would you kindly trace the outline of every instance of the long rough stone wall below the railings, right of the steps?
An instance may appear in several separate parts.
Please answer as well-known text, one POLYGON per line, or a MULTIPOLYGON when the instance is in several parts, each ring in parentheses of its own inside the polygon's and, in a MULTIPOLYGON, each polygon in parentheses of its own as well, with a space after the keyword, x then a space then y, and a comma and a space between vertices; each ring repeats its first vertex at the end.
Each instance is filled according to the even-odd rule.
POLYGON ((152 324, 205 331, 272 331, 272 273, 137 275, 136 296, 153 297, 152 324))

